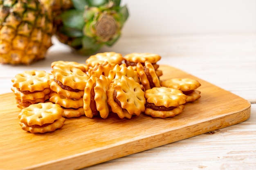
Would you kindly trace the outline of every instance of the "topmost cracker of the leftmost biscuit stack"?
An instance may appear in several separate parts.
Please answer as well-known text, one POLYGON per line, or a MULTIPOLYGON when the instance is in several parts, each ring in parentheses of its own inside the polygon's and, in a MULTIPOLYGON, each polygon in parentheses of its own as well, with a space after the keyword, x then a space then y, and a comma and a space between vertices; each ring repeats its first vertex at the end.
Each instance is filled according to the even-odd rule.
POLYGON ((49 88, 47 83, 49 75, 50 74, 45 71, 24 71, 20 74, 16 74, 11 81, 13 82, 13 87, 20 89, 20 91, 43 91, 45 88, 49 88))

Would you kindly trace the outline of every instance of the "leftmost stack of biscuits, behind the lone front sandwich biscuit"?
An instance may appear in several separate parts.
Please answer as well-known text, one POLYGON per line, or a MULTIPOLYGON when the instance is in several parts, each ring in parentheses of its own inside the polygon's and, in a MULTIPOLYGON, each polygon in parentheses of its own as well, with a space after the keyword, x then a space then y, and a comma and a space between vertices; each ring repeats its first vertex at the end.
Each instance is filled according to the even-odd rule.
POLYGON ((48 100, 51 92, 47 83, 49 76, 49 73, 38 70, 16 74, 11 80, 13 82, 11 90, 16 96, 17 107, 23 109, 31 104, 48 100))

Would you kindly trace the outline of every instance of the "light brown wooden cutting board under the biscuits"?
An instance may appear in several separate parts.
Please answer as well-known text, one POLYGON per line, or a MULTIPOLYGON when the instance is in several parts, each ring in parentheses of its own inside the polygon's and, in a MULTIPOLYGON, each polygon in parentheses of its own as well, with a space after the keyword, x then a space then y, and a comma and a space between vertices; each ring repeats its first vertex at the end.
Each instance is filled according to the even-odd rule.
POLYGON ((186 103, 174 118, 141 114, 131 120, 116 115, 70 118, 52 133, 33 134, 19 125, 14 94, 0 95, 0 169, 78 169, 162 146, 243 122, 251 104, 239 96, 169 66, 161 66, 162 80, 194 78, 201 98, 186 103))

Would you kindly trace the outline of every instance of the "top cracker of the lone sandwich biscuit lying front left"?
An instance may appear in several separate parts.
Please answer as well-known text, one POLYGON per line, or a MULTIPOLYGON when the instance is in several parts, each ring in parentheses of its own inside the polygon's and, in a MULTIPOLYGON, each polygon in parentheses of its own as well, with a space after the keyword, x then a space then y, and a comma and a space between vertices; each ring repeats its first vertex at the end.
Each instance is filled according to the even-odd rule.
POLYGON ((51 102, 30 105, 21 110, 20 122, 28 126, 51 124, 62 117, 63 109, 60 105, 51 102))

